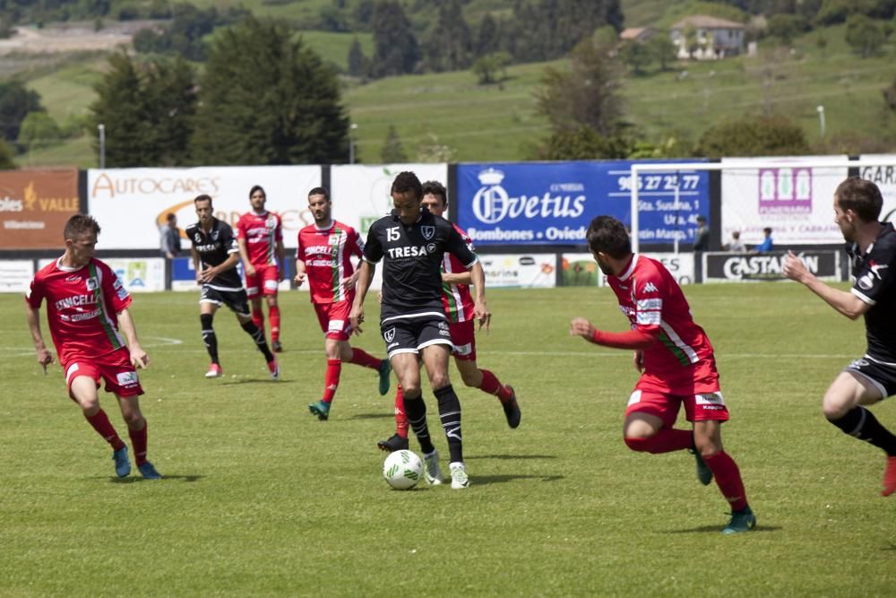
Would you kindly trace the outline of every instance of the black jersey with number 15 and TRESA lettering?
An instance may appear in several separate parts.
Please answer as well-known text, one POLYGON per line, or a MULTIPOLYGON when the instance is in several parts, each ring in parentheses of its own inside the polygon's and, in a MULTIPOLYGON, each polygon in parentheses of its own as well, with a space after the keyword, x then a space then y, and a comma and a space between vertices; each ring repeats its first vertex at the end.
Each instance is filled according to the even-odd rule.
POLYGON ((381 319, 422 313, 444 317, 445 253, 457 256, 468 268, 477 260, 452 223, 426 208, 413 224, 403 224, 394 213, 374 222, 364 259, 371 264, 383 260, 381 319))

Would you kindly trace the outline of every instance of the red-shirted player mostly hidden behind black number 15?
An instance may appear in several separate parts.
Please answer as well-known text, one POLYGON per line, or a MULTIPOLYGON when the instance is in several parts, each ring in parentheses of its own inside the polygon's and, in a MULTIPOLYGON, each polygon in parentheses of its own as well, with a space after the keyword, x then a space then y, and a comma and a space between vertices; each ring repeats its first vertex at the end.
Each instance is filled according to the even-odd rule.
MULTIPOLYGON (((436 216, 445 217, 448 209, 448 194, 444 185, 438 181, 426 181, 423 184, 423 201, 420 204, 436 216)), ((454 224, 470 251, 473 241, 467 233, 454 224)), ((504 407, 507 425, 517 428, 520 425, 520 406, 512 386, 504 386, 491 371, 480 369, 476 363, 476 336, 474 334, 473 298, 470 295, 470 271, 461 260, 446 253, 442 260, 442 304, 448 316, 448 328, 451 332, 454 348, 454 364, 461 372, 463 384, 478 388, 484 393, 494 394, 504 407)), ((398 451, 408 448, 408 416, 404 412, 404 395, 401 386, 395 393, 395 434, 387 440, 376 443, 384 451, 398 451)))

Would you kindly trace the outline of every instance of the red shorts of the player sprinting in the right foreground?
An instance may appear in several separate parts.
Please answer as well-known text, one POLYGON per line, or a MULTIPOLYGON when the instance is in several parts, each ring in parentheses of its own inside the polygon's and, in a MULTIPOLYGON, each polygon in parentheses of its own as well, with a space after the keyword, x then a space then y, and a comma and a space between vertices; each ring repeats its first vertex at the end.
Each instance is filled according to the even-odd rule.
POLYGON ((682 404, 685 405, 688 421, 728 421, 728 407, 719 388, 715 360, 697 363, 689 381, 673 381, 670 384, 659 377, 644 374, 628 399, 625 416, 633 412, 649 413, 663 420, 667 428, 672 428, 682 404))

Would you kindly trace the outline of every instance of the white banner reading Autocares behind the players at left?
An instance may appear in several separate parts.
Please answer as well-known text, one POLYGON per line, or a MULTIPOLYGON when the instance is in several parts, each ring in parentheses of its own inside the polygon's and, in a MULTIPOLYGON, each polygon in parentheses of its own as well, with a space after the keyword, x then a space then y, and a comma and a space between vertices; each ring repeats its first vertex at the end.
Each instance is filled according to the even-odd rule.
MULTIPOLYGON (((298 230, 314 219, 308 191, 321 185, 320 166, 220 166, 195 169, 90 169, 90 215, 99 221, 102 249, 158 249, 159 226, 168 212, 180 230, 194 223, 196 195, 211 195, 215 216, 236 225, 248 212, 249 189, 261 185, 267 208, 283 219, 283 242, 296 247, 298 230)), ((183 234, 183 233, 182 233, 183 234)), ((183 238, 183 247, 190 241, 183 238)))

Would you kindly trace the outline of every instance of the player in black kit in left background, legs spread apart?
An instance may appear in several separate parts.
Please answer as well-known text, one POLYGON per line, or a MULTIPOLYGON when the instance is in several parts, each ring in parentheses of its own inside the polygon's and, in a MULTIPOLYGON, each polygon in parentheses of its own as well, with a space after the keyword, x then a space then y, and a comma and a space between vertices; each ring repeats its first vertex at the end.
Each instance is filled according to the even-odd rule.
POLYGON ((264 340, 264 332, 252 322, 249 299, 243 282, 237 273, 239 246, 233 230, 227 222, 211 215, 211 197, 199 195, 194 199, 199 221, 186 229, 193 247, 190 255, 196 269, 196 284, 202 285, 199 299, 199 318, 202 321, 202 340, 211 357, 211 366, 205 377, 221 377, 218 360, 218 337, 211 326, 215 312, 223 303, 237 315, 239 325, 252 337, 258 351, 262 351, 268 371, 275 380, 280 378, 280 367, 264 340))

